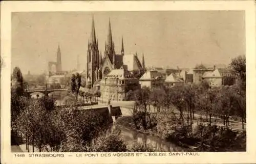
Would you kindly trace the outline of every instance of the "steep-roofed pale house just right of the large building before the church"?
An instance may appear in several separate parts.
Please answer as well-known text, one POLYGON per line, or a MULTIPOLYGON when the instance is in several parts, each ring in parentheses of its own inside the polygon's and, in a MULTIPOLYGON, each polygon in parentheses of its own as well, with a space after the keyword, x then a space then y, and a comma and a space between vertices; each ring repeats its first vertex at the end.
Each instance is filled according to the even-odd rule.
POLYGON ((161 73, 157 71, 146 71, 140 77, 140 86, 154 88, 164 83, 164 78, 161 73))

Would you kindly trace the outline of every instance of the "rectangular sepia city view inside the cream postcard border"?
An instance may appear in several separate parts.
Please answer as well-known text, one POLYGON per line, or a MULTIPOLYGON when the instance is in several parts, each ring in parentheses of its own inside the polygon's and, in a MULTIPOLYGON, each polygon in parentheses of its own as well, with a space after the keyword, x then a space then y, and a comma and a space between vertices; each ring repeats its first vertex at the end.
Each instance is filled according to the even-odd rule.
POLYGON ((12 152, 246 151, 244 11, 11 23, 12 152))

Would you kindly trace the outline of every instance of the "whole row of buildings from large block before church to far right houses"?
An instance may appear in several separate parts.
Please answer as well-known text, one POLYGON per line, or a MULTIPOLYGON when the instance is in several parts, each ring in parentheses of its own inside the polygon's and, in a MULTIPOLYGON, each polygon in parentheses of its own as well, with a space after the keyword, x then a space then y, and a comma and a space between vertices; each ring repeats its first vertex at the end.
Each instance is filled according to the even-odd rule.
POLYGON ((122 101, 127 92, 140 87, 154 88, 162 84, 169 86, 185 83, 199 84, 202 80, 208 81, 210 86, 219 87, 224 85, 223 79, 229 76, 231 76, 229 69, 206 68, 203 65, 194 69, 169 69, 165 73, 148 70, 140 78, 125 69, 115 69, 101 79, 98 87, 102 99, 122 101))

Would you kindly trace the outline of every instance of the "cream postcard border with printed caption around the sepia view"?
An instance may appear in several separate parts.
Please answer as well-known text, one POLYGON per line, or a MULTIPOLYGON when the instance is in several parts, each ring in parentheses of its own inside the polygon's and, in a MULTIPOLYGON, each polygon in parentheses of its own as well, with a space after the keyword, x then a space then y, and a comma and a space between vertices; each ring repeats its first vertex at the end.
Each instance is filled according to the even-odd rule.
MULTIPOLYGON (((255 3, 253 1, 94 1, 49 2, 5 1, 1 3, 1 159, 3 163, 253 163, 255 140, 255 3), (161 10, 244 10, 246 21, 247 72, 247 152, 199 152, 199 156, 76 157, 80 153, 63 153, 65 157, 28 157, 29 153, 10 150, 10 74, 11 12, 28 11, 161 11, 161 10), (250 110, 249 110, 250 109, 250 110), (14 154, 26 154, 15 157, 14 154), (72 155, 72 156, 69 156, 72 155)), ((42 154, 42 153, 34 153, 42 154)), ((61 154, 61 153, 51 153, 61 154)), ((84 153, 82 153, 84 154, 84 153)), ((100 154, 100 152, 99 152, 100 154)))

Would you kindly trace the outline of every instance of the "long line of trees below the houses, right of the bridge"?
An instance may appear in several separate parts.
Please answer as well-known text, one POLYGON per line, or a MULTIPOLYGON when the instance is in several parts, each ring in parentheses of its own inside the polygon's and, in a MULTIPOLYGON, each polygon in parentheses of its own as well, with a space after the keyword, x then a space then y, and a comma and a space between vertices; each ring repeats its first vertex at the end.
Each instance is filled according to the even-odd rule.
POLYGON ((159 120, 161 112, 179 113, 182 123, 192 125, 195 114, 201 122, 216 124, 222 119, 228 128, 230 117, 239 117, 244 129, 246 122, 246 92, 245 92, 245 57, 239 56, 230 63, 232 73, 237 77, 237 83, 231 86, 211 87, 207 81, 201 84, 184 84, 173 87, 161 86, 153 89, 141 88, 129 91, 126 100, 135 100, 137 112, 134 123, 138 122, 143 129, 153 128, 159 120), (205 119, 206 117, 206 119, 205 119))

